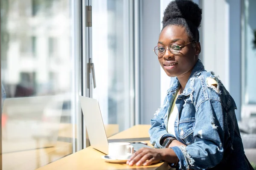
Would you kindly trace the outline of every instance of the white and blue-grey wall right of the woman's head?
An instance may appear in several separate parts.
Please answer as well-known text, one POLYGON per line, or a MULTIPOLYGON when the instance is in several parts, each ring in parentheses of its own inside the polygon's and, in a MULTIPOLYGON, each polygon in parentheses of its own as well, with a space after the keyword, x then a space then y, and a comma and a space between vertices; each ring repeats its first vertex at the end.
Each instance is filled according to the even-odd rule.
POLYGON ((234 98, 241 116, 241 0, 202 0, 202 58, 234 98))

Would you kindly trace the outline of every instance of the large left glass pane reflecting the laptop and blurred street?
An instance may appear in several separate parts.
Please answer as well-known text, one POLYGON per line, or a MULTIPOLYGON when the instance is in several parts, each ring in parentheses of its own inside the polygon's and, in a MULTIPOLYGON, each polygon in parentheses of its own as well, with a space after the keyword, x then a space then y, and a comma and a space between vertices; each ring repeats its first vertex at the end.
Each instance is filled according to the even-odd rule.
POLYGON ((3 170, 76 151, 70 8, 70 0, 1 0, 3 170))

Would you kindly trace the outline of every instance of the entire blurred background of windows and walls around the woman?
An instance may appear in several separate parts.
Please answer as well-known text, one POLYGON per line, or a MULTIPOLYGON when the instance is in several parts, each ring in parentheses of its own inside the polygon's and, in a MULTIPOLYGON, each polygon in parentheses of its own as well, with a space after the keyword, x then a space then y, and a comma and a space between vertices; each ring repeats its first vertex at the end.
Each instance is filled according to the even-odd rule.
MULTIPOLYGON (((108 136, 150 124, 169 88, 153 48, 170 1, 0 1, 4 170, 36 169, 89 145, 79 95, 99 101, 108 136)), ((256 1, 194 1, 203 9, 200 58, 235 99, 256 163, 256 1)))

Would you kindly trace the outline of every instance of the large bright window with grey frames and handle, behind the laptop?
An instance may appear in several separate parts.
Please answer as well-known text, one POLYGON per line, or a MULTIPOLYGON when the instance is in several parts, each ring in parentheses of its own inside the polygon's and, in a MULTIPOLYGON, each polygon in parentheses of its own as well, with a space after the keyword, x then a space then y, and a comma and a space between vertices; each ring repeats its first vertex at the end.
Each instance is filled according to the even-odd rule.
POLYGON ((36 169, 81 149, 81 94, 99 100, 106 124, 117 124, 119 131, 133 125, 132 12, 127 0, 4 1, 3 169, 36 169), (94 25, 81 29, 89 2, 94 25), (95 65, 93 90, 87 87, 89 57, 95 65))

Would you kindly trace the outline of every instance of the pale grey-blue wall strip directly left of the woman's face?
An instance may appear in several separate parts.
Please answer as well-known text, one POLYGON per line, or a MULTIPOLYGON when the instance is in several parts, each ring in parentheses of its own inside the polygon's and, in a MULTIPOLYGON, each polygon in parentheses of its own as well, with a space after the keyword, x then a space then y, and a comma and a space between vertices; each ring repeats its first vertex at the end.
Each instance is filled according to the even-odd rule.
POLYGON ((160 1, 142 0, 140 123, 150 124, 160 106, 160 64, 154 47, 160 33, 160 1))

